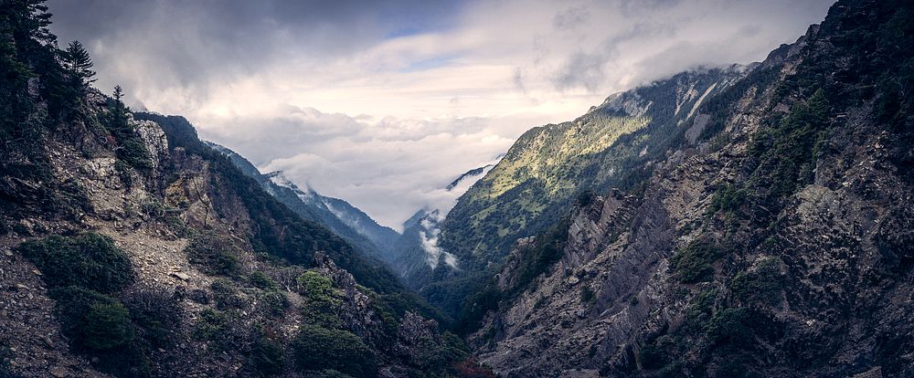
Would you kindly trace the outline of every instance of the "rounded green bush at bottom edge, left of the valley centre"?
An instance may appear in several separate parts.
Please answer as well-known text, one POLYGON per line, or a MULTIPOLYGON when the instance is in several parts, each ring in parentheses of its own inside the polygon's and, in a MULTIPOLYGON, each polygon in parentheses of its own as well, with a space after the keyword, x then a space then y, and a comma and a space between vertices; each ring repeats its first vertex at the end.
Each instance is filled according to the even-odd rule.
POLYGON ((292 348, 302 370, 331 369, 355 377, 373 377, 377 373, 374 355, 352 332, 306 325, 292 341, 292 348))

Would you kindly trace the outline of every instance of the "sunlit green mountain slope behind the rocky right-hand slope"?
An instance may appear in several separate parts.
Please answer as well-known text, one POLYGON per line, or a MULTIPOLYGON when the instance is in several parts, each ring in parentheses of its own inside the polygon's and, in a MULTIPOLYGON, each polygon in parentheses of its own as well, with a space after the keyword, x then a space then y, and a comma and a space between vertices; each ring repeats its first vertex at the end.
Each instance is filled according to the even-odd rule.
POLYGON ((558 223, 579 195, 636 187, 671 146, 698 138, 707 119, 696 110, 756 66, 696 68, 613 94, 574 121, 526 131, 441 222, 439 245, 460 269, 417 288, 459 312, 516 240, 558 223))

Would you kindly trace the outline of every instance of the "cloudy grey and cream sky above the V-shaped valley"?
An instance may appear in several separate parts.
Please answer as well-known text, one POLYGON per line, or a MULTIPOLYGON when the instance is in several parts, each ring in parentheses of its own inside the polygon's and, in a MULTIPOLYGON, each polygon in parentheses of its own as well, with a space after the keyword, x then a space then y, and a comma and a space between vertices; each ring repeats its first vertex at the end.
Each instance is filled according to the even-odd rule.
POLYGON ((134 110, 399 229, 524 131, 698 66, 749 63, 831 0, 51 0, 134 110))

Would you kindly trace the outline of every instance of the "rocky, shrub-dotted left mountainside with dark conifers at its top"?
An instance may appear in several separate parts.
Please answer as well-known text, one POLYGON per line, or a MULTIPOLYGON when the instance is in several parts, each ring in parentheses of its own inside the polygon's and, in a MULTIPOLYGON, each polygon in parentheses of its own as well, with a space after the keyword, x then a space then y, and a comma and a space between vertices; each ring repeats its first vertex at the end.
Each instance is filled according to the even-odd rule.
POLYGON ((0 376, 459 376, 436 310, 184 118, 91 88, 46 11, 0 7, 0 376))

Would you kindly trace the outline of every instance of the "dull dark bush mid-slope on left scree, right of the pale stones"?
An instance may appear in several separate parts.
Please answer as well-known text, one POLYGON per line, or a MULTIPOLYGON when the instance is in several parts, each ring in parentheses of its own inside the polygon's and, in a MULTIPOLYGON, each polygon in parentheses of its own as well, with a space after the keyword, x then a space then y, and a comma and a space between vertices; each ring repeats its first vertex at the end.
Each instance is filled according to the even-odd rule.
POLYGON ((241 270, 240 249, 228 237, 215 232, 194 236, 187 245, 187 259, 209 274, 237 276, 241 270))

